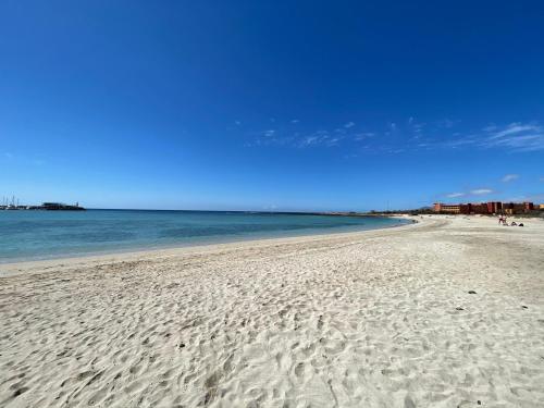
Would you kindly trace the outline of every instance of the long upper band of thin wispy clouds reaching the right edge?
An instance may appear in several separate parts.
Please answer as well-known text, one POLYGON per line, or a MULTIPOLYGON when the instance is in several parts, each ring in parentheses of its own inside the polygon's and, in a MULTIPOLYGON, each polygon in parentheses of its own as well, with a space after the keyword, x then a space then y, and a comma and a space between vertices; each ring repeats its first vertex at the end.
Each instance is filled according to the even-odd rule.
MULTIPOLYGON (((441 149, 502 149, 509 152, 544 150, 544 127, 537 122, 490 124, 478 131, 462 129, 457 120, 418 122, 410 116, 404 122, 388 122, 381 129, 357 129, 355 122, 313 132, 294 132, 289 124, 297 119, 281 122, 274 128, 252 133, 257 140, 246 146, 284 146, 292 148, 316 146, 345 146, 359 153, 399 153, 441 149), (363 147, 363 145, 366 147, 363 147)), ((359 127, 359 126, 357 126, 359 127)), ((509 177, 509 181, 514 178, 509 177)))

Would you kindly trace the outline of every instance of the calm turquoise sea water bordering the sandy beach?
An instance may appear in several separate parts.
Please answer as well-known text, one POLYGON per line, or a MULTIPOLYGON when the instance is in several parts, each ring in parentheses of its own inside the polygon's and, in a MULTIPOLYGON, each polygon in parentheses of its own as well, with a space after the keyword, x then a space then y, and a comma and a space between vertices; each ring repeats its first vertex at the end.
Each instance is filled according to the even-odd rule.
POLYGON ((0 262, 396 226, 387 218, 88 210, 0 211, 0 262))

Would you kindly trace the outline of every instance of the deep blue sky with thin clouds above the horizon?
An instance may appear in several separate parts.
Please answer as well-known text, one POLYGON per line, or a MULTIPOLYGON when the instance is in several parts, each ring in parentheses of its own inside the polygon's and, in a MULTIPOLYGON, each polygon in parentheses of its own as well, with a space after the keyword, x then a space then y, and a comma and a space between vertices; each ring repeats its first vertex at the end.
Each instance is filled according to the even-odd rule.
POLYGON ((543 50, 540 1, 2 1, 0 196, 544 202, 543 50))

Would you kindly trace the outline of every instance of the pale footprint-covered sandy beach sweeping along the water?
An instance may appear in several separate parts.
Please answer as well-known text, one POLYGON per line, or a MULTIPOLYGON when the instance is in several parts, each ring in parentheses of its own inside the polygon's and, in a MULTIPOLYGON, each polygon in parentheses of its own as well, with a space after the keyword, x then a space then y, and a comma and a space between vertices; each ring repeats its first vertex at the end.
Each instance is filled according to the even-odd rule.
POLYGON ((0 406, 544 407, 524 223, 2 265, 0 406))

